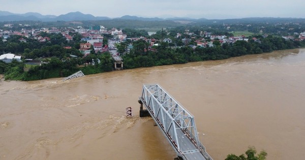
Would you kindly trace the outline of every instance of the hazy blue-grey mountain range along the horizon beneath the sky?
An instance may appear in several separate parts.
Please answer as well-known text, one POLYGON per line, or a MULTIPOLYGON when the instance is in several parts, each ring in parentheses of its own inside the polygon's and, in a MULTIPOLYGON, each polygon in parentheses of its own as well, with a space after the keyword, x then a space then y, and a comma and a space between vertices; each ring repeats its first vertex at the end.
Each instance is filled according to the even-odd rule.
MULTIPOLYGON (((40 13, 28 12, 24 14, 11 13, 7 11, 0 11, 0 22, 3 21, 75 21, 75 20, 111 20, 109 17, 95 17, 91 14, 83 14, 81 12, 70 12, 67 14, 54 16, 54 15, 42 15, 40 13)), ((240 22, 281 22, 281 21, 299 21, 303 18, 272 18, 272 17, 253 17, 253 18, 239 18, 239 19, 194 19, 188 17, 173 17, 173 18, 144 18, 137 16, 125 15, 119 18, 113 18, 114 20, 140 20, 140 21, 178 21, 178 23, 191 23, 196 22, 198 24, 208 23, 240 23, 240 22)))

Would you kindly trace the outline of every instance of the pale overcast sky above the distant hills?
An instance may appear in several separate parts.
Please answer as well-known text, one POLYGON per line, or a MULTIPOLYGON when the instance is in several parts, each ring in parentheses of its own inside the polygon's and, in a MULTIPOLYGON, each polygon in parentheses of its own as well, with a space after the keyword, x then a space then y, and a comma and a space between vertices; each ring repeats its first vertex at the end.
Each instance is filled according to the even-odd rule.
POLYGON ((0 11, 56 16, 79 11, 110 18, 124 15, 207 19, 305 18, 304 0, 0 0, 0 4, 0 11))

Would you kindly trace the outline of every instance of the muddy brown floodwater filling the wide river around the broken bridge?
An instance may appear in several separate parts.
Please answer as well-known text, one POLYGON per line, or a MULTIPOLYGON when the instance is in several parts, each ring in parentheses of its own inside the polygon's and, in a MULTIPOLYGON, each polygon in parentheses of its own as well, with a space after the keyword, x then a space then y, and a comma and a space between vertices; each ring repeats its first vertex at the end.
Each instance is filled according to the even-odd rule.
POLYGON ((143 83, 195 116, 214 159, 248 146, 267 159, 305 157, 305 49, 61 80, 0 81, 0 159, 173 159, 153 120, 138 116, 143 83))

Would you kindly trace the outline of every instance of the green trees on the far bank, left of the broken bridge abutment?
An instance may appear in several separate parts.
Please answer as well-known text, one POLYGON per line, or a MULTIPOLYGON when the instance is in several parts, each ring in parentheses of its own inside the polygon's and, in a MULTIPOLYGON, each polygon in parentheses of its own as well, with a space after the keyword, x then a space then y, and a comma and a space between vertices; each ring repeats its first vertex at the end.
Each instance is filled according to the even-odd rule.
POLYGON ((13 60, 11 63, 5 63, 0 60, 0 74, 5 74, 5 79, 30 81, 67 77, 80 70, 85 75, 109 72, 113 70, 113 58, 109 52, 89 54, 85 58, 51 57, 45 59, 41 65, 29 67, 28 71, 24 71, 26 68, 23 61, 13 60), (87 65, 80 66, 83 63, 87 65))

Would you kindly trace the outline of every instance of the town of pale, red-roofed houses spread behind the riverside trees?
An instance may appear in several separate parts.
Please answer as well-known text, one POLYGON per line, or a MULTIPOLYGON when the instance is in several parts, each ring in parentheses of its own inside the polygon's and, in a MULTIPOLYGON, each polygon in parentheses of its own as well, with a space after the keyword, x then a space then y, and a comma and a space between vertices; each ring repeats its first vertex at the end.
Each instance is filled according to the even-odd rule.
MULTIPOLYGON (((4 24, 3 27, 5 28, 12 28, 16 24, 4 24)), ((20 26, 29 27, 28 24, 19 24, 20 26)), ((228 27, 227 27, 228 28, 228 27)), ((167 35, 170 33, 168 30, 164 30, 167 35)), ((42 32, 48 33, 48 34, 61 34, 63 37, 65 37, 66 41, 72 41, 73 36, 71 36, 71 33, 78 33, 81 35, 81 43, 79 44, 79 52, 82 53, 83 57, 89 55, 90 53, 103 53, 106 51, 110 51, 114 59, 118 59, 122 61, 123 59, 120 58, 120 54, 116 51, 116 44, 119 44, 121 42, 128 41, 129 44, 126 47, 125 53, 129 53, 131 49, 133 48, 132 42, 138 41, 138 40, 144 40, 149 44, 148 50, 150 51, 157 51, 157 47, 160 42, 167 42, 169 44, 173 43, 173 39, 181 39, 183 46, 189 46, 193 48, 194 50, 196 47, 214 47, 214 41, 219 41, 219 43, 222 45, 224 43, 233 44, 236 41, 249 41, 248 37, 245 37, 243 35, 240 36, 225 36, 225 35, 214 35, 210 31, 200 31, 199 35, 196 35, 193 32, 190 32, 189 29, 186 29, 184 33, 177 33, 175 37, 171 38, 164 38, 164 39, 155 39, 155 38, 147 38, 147 37, 128 37, 126 33, 123 32, 123 29, 118 28, 111 28, 107 29, 106 27, 102 25, 90 25, 89 28, 84 28, 82 26, 77 26, 75 28, 73 27, 65 27, 65 28, 56 28, 56 27, 50 27, 50 28, 32 28, 32 29, 24 29, 21 30, 10 30, 10 29, 0 29, 0 40, 3 43, 7 43, 7 39, 10 36, 17 35, 20 36, 19 41, 22 43, 26 43, 28 39, 35 39, 40 43, 46 43, 49 41, 52 41, 49 37, 43 37, 41 36, 42 32), (70 33, 70 34, 69 34, 70 33), (109 39, 108 44, 103 44, 104 35, 111 35, 111 39, 109 39), (186 38, 188 37, 188 38, 186 38), (208 39, 208 40, 207 40, 208 39), (192 44, 191 44, 192 42, 192 44), (93 52, 94 50, 94 52, 93 52)), ((262 33, 262 31, 260 31, 262 33)), ((263 37, 267 37, 268 35, 263 35, 263 37)), ((294 41, 303 41, 305 39, 305 32, 302 33, 294 33, 294 36, 282 36, 285 40, 294 40, 294 41), (295 36, 295 35, 298 35, 295 36)), ((254 42, 259 42, 260 40, 252 37, 251 40, 254 42)), ((71 49, 73 46, 63 46, 66 49, 71 49)), ((177 48, 181 46, 171 45, 172 48, 177 48)), ((146 48, 145 48, 145 51, 146 48)), ((3 60, 5 62, 9 62, 12 59, 17 59, 18 61, 21 60, 20 55, 14 56, 14 53, 1 53, 0 60, 3 60), (7 60, 11 59, 11 60, 7 60)), ((17 53, 18 54, 18 53, 17 53)), ((75 55, 70 55, 71 57, 77 57, 75 55)))

